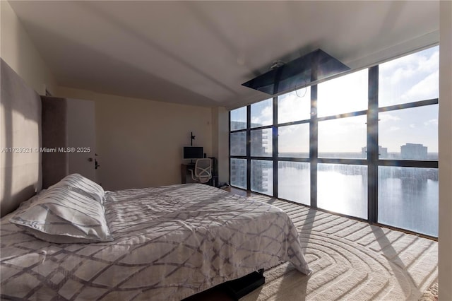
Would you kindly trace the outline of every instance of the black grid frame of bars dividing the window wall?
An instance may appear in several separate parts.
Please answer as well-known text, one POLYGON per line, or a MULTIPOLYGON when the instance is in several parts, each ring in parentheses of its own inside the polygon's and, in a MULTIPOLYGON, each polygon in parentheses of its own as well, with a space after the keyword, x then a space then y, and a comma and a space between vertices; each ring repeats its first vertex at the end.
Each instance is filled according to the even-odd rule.
MULTIPOLYGON (((433 46, 436 47, 436 46, 433 46)), ((431 47, 429 47, 431 48, 431 47)), ((422 49, 420 50, 422 51, 422 49)), ((409 54, 406 54, 409 55, 409 54)), ((396 58, 394 58, 396 59, 396 58)), ((359 70, 357 70, 359 71, 359 70)), ((355 71, 354 71, 355 72, 355 71)), ((348 74, 348 73, 347 73, 348 74)), ((345 74, 345 75, 347 75, 345 74)), ((315 79, 315 78, 314 78, 315 79)), ((284 122, 278 124, 278 95, 273 97, 273 124, 268 126, 258 126, 251 128, 251 105, 247 105, 247 126, 246 129, 234 130, 230 133, 236 133, 240 131, 246 131, 246 155, 237 156, 230 155, 232 158, 241 158, 247 160, 247 184, 246 190, 251 190, 251 160, 269 160, 273 161, 273 197, 278 198, 278 162, 290 161, 299 163, 309 163, 310 165, 310 206, 312 208, 318 208, 317 206, 317 178, 318 178, 318 164, 342 164, 342 165, 364 165, 367 166, 367 219, 357 218, 358 220, 364 220, 376 225, 384 225, 379 223, 379 167, 380 166, 397 166, 397 167, 421 167, 421 168, 434 168, 437 169, 439 164, 438 160, 402 160, 402 159, 380 159, 379 158, 379 113, 391 112, 397 110, 408 109, 412 107, 423 107, 429 105, 438 105, 439 98, 432 98, 427 100, 417 100, 414 102, 407 102, 400 105, 389 105, 385 107, 379 107, 379 64, 368 68, 368 107, 367 110, 359 110, 356 112, 347 112, 338 115, 317 117, 317 90, 318 85, 311 85, 311 114, 310 119, 302 119, 294 122, 284 122), (353 158, 319 158, 319 122, 333 119, 340 119, 346 117, 355 117, 367 115, 367 158, 353 159, 353 158), (278 129, 280 126, 288 126, 295 124, 307 124, 309 123, 309 158, 295 158, 295 157, 278 157, 278 129), (250 143, 251 143, 251 130, 256 129, 271 129, 273 132, 273 154, 270 157, 251 156, 250 143)), ((292 92, 292 91, 290 91, 292 92)), ((289 93, 290 93, 289 92, 289 93)), ((268 100, 268 98, 266 98, 268 100)), ((229 120, 231 124, 231 120, 229 120)), ((258 191, 254 191, 259 193, 258 191)), ((286 200, 290 201, 290 200, 286 200)), ((291 201, 293 202, 293 201, 291 201)), ((297 202, 295 202, 297 203, 297 202)), ((338 213, 340 216, 346 216, 338 213)), ((396 228, 390 225, 391 228, 396 228)), ((396 228, 399 229, 399 228, 396 228)), ((405 232, 412 232, 420 234, 407 229, 399 229, 405 232)), ((422 235, 422 234, 420 234, 422 235)), ((437 237, 431 237, 429 235, 423 235, 425 237, 436 239, 437 237)))

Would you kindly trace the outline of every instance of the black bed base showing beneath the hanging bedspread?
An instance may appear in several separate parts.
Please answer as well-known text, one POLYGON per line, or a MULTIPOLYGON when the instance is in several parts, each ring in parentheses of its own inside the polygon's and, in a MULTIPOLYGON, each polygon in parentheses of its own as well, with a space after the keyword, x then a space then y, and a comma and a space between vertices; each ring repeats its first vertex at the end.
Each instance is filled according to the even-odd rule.
POLYGON ((248 295, 253 290, 256 290, 259 286, 266 282, 266 278, 263 276, 263 268, 253 273, 249 273, 242 278, 238 278, 232 281, 223 283, 222 289, 232 297, 234 300, 239 300, 244 295, 248 295))

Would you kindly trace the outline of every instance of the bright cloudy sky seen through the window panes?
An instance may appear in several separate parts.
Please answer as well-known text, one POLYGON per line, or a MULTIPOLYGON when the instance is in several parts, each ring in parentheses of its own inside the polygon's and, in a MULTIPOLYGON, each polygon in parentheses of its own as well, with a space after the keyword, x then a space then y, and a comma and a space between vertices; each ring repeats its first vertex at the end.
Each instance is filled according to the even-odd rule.
MULTIPOLYGON (((367 110, 367 69, 318 86, 318 116, 367 110)), ((400 105, 439 97, 439 47, 409 54, 379 65, 379 106, 400 105)), ((278 122, 309 119, 310 89, 278 98, 278 122)), ((272 100, 251 105, 251 124, 270 125, 272 100)), ((234 121, 246 122, 246 107, 231 111, 234 121)), ((366 115, 319 122, 319 152, 360 152, 366 146, 366 115)), ((280 127, 280 152, 309 150, 309 126, 280 127), (299 139, 295 138, 299 137, 299 139)), ((379 113, 379 145, 400 152, 405 143, 420 143, 438 151, 438 105, 379 113)))

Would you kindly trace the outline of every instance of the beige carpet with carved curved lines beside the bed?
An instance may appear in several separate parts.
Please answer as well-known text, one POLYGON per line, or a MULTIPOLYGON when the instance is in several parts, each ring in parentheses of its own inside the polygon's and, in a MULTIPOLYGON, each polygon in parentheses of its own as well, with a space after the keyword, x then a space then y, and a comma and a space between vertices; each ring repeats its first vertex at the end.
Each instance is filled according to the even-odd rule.
POLYGON ((305 276, 280 264, 241 301, 419 300, 437 281, 437 242, 266 196, 253 198, 292 218, 313 273, 305 276))

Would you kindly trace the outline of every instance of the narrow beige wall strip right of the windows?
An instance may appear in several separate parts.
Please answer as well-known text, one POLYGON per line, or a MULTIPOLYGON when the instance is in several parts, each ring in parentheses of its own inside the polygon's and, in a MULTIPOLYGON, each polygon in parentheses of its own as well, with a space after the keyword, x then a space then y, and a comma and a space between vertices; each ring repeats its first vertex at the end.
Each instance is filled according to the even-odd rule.
POLYGON ((452 1, 440 4, 439 300, 452 300, 452 1))

